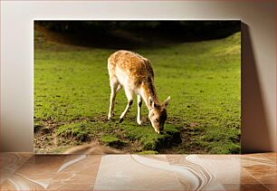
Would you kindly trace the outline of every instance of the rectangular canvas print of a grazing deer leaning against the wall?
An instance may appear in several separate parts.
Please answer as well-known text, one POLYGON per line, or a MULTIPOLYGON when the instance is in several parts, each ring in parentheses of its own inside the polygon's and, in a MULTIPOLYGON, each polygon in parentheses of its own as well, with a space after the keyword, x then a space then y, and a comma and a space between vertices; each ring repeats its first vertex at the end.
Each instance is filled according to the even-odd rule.
POLYGON ((240 21, 34 21, 35 153, 238 154, 240 21))

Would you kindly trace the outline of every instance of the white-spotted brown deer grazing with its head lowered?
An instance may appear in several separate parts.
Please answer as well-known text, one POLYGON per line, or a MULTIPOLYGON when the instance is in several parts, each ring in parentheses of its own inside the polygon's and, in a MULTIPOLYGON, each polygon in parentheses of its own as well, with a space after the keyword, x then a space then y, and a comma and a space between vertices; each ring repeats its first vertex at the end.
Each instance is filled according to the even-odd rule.
POLYGON ((108 119, 114 116, 114 104, 116 94, 123 88, 128 103, 119 118, 119 123, 123 121, 128 113, 134 95, 138 100, 137 122, 141 121, 141 106, 144 100, 148 108, 148 119, 156 133, 163 132, 165 121, 167 120, 167 105, 170 96, 163 102, 158 101, 157 91, 154 85, 153 68, 147 58, 129 51, 120 50, 110 54, 108 58, 108 72, 110 76, 110 110, 108 119))

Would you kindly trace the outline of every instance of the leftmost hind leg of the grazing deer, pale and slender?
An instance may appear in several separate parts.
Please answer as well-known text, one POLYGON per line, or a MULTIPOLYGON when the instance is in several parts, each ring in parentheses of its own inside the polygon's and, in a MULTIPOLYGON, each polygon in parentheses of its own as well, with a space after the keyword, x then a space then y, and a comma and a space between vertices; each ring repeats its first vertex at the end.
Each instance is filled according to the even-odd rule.
POLYGON ((114 101, 116 98, 117 92, 120 90, 119 86, 119 80, 116 76, 111 76, 110 77, 110 110, 109 110, 109 115, 108 119, 111 120, 113 117, 113 109, 114 109, 114 101))

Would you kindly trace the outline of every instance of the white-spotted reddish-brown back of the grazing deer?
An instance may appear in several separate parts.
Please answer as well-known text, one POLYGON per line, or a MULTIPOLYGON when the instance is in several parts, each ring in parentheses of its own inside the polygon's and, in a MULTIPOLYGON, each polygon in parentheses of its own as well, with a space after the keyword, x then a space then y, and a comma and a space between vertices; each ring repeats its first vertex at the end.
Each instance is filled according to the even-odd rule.
POLYGON ((112 53, 108 59, 108 69, 110 75, 116 75, 119 79, 125 77, 134 83, 152 81, 154 78, 148 59, 129 51, 112 53))

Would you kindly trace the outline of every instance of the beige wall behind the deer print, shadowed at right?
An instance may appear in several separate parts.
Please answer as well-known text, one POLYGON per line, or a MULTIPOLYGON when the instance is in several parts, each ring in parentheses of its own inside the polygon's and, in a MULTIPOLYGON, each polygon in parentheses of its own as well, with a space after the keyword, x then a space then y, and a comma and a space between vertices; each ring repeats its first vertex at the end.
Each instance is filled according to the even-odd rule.
POLYGON ((241 19, 248 25, 244 27, 247 35, 244 35, 243 31, 243 41, 246 38, 246 43, 243 42, 243 52, 247 54, 243 56, 243 69, 246 72, 245 76, 249 76, 243 78, 247 83, 243 81, 242 145, 245 152, 275 150, 274 1, 1 1, 0 3, 3 151, 33 151, 33 19, 241 19), (252 58, 247 58, 248 55, 252 55, 252 58), (247 67, 244 67, 244 62, 248 62, 247 67), (253 77, 255 73, 256 78, 253 77), (259 104, 255 104, 256 102, 259 104))

